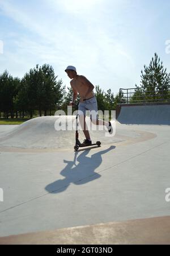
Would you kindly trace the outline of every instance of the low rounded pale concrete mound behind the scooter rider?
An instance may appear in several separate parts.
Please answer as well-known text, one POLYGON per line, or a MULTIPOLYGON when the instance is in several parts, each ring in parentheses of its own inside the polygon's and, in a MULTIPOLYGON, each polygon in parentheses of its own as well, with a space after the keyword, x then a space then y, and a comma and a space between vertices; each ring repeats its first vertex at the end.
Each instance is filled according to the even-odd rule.
MULTIPOLYGON (((139 130, 129 130, 115 121, 112 122, 114 133, 109 135, 104 126, 90 126, 90 118, 86 118, 92 142, 104 144, 137 143, 155 138, 155 134, 139 130), (92 130, 94 129, 94 130, 92 130)), ((58 126, 58 125, 57 125, 58 126)), ((84 140, 79 130, 80 142, 84 140)), ((47 116, 30 119, 16 126, 7 133, 0 133, 0 151, 10 152, 45 152, 66 150, 75 145, 75 116, 47 116), (56 130, 56 124, 65 124, 65 130, 56 130), (71 129, 72 127, 72 129, 71 129)))

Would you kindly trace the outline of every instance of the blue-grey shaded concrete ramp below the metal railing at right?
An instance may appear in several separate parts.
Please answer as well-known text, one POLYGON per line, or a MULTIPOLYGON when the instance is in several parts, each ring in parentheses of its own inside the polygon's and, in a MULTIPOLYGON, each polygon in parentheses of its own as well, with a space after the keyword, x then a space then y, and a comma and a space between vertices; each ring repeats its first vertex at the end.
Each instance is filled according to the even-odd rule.
POLYGON ((170 104, 122 105, 117 120, 126 125, 170 125, 170 104))

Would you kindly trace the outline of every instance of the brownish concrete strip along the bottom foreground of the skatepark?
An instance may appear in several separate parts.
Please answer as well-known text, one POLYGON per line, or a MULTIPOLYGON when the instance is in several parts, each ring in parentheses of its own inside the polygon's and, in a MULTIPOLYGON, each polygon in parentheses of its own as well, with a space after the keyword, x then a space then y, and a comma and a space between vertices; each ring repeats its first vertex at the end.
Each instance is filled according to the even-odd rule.
POLYGON ((0 245, 170 244, 170 216, 109 222, 18 236, 1 237, 0 245))

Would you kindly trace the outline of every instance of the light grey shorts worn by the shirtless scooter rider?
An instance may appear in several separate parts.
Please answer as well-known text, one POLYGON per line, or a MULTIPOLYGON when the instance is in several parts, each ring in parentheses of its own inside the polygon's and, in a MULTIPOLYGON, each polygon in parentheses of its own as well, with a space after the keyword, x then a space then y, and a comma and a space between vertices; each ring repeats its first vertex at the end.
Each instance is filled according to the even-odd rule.
POLYGON ((90 98, 90 100, 86 100, 84 102, 80 102, 79 103, 79 110, 81 112, 78 112, 79 114, 84 114, 84 116, 86 116, 86 110, 94 110, 92 111, 92 118, 96 119, 98 118, 98 115, 97 115, 97 101, 96 101, 96 97, 92 97, 90 98), (95 114, 96 114, 96 117, 95 117, 95 114))

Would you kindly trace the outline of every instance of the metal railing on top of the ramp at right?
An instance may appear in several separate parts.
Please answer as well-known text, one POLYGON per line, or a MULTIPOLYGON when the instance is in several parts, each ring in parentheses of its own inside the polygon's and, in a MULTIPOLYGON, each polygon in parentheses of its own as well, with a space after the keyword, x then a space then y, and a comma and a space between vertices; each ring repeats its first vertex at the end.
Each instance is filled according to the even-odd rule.
POLYGON ((164 86, 154 89, 153 87, 143 87, 120 89, 120 104, 145 104, 155 102, 170 103, 170 88, 164 86), (150 89, 152 88, 152 89, 150 89))

